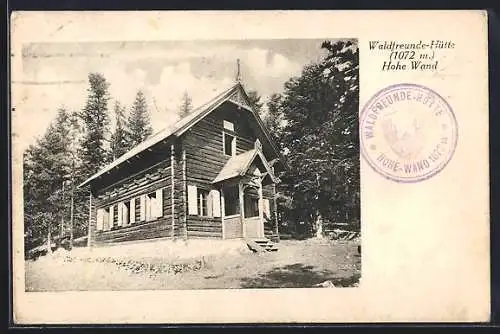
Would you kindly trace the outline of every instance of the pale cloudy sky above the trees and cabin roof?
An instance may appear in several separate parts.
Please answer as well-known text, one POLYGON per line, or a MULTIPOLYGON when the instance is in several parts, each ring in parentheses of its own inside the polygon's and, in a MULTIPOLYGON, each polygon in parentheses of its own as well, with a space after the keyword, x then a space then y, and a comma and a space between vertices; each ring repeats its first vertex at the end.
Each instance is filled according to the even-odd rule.
POLYGON ((304 65, 324 56, 322 41, 27 44, 23 46, 22 75, 12 83, 20 93, 13 107, 23 119, 23 128, 13 132, 25 149, 43 135, 59 107, 80 110, 91 72, 102 73, 110 84, 110 110, 115 101, 129 109, 137 91, 142 90, 155 132, 177 121, 184 92, 196 107, 232 85, 236 59, 240 59, 245 89, 256 90, 265 102, 271 94, 282 92, 289 78, 300 75, 304 65))

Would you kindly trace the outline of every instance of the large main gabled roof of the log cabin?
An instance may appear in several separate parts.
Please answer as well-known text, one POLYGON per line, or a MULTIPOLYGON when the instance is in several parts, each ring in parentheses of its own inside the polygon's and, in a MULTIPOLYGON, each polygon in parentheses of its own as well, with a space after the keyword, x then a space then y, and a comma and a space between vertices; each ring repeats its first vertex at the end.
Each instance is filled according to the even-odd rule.
POLYGON ((269 135, 269 132, 264 126, 264 123, 262 122, 261 118, 255 112, 253 107, 251 107, 251 102, 248 98, 248 95, 246 94, 243 86, 238 82, 228 89, 224 90, 222 93, 219 95, 215 96, 212 100, 208 101, 207 103, 201 105, 200 107, 192 110, 189 115, 186 117, 180 119, 177 121, 175 124, 168 126, 157 133, 155 133, 153 136, 149 137, 142 143, 138 144, 137 146, 133 147, 130 151, 113 161, 112 163, 108 164, 104 168, 102 168, 99 172, 95 173, 91 177, 89 177, 87 180, 85 180, 83 183, 81 183, 78 187, 83 187, 87 184, 89 184, 91 181, 97 179, 99 176, 111 171, 115 167, 121 165, 128 159, 136 156, 137 154, 143 152, 144 150, 152 147, 153 145, 166 140, 167 138, 171 136, 181 136, 184 132, 189 130, 193 125, 195 125, 198 121, 203 119, 205 116, 207 116, 210 112, 212 112, 214 109, 219 107, 222 103, 231 100, 233 103, 239 104, 240 106, 248 109, 256 118, 257 123, 259 124, 260 128, 264 132, 265 136, 267 137, 268 141, 271 143, 271 146, 275 153, 282 159, 284 162, 285 160, 283 159, 283 156, 279 152, 279 150, 276 148, 274 143, 272 142, 272 139, 269 135), (243 98, 246 103, 241 104, 238 103, 238 101, 234 101, 231 99, 235 93, 239 93, 240 98, 243 98))

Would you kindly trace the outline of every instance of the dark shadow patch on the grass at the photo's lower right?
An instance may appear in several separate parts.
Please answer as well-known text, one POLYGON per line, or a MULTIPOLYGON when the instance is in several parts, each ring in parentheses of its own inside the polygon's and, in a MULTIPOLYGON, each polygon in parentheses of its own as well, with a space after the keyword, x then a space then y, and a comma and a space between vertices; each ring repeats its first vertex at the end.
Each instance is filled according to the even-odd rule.
POLYGON ((315 284, 331 281, 336 287, 350 287, 359 281, 360 275, 334 277, 327 270, 315 270, 313 266, 295 263, 276 267, 255 277, 243 278, 242 288, 311 288, 315 284))

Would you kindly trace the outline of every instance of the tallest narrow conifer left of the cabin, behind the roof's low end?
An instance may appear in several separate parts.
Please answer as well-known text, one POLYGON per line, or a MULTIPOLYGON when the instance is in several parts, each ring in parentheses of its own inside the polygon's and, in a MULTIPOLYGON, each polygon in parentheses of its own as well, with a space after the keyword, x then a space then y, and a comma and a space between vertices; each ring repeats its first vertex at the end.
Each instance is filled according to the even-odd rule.
POLYGON ((90 177, 103 167, 109 158, 106 136, 109 126, 109 84, 99 73, 89 74, 88 96, 81 112, 84 137, 81 143, 80 176, 90 177))

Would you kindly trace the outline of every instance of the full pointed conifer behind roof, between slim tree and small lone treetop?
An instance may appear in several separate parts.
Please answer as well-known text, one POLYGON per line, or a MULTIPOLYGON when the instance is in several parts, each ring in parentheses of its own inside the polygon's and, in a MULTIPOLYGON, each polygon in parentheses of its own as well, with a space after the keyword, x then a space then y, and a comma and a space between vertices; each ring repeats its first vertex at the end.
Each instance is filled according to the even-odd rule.
POLYGON ((128 118, 130 145, 133 147, 143 142, 153 133, 150 124, 148 105, 142 91, 138 91, 128 118))

